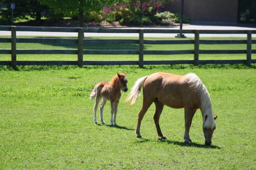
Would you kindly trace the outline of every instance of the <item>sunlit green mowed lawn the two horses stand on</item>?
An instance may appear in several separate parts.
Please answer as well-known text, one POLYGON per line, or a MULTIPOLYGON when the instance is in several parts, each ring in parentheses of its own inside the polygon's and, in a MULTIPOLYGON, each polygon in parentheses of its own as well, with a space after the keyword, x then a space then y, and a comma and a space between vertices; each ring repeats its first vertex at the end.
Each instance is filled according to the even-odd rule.
MULTIPOLYGON (((256 65, 0 67, 0 169, 256 169, 256 65), (212 146, 204 146, 198 110, 184 144, 184 111, 164 107, 158 138, 154 104, 135 129, 142 95, 135 105, 118 106, 118 126, 93 121, 92 88, 125 72, 128 88, 142 76, 164 71, 196 73, 212 100, 217 129, 212 146)), ((99 113, 97 115, 99 121, 99 113)))

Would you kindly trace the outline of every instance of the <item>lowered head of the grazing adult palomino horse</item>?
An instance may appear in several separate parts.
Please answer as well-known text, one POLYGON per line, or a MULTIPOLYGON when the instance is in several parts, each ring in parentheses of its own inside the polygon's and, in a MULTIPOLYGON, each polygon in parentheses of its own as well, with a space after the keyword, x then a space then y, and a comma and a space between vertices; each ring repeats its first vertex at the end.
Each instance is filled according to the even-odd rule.
POLYGON ((203 133, 205 138, 205 145, 210 146, 212 144, 212 137, 213 132, 216 129, 215 120, 217 119, 217 116, 214 117, 213 120, 210 120, 211 118, 208 118, 208 115, 205 115, 205 121, 203 124, 203 133))

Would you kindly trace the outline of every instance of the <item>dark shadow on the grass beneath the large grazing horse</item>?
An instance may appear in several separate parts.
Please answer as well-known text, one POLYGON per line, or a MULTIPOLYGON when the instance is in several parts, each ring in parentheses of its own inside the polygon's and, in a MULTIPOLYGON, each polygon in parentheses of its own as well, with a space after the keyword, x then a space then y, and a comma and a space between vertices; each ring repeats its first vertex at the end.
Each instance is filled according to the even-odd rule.
MULTIPOLYGON (((137 142, 138 143, 144 143, 144 142, 149 142, 149 141, 153 141, 153 140, 141 138, 137 142)), ((158 141, 163 142, 163 143, 167 143, 167 144, 179 145, 179 146, 182 146, 182 147, 221 149, 220 147, 215 146, 215 145, 207 146, 207 145, 202 145, 202 144, 198 144, 198 143, 194 143, 194 142, 186 143, 186 142, 172 141, 172 140, 168 140, 168 139, 158 139, 158 141)))

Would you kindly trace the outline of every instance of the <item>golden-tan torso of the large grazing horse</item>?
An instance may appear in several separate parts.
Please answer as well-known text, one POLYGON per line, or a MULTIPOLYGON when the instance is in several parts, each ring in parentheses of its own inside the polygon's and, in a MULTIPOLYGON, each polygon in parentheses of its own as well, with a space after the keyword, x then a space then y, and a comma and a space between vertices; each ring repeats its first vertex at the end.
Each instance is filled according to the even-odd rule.
POLYGON ((165 72, 151 74, 144 83, 143 97, 173 108, 198 107, 199 98, 188 83, 189 77, 165 72))

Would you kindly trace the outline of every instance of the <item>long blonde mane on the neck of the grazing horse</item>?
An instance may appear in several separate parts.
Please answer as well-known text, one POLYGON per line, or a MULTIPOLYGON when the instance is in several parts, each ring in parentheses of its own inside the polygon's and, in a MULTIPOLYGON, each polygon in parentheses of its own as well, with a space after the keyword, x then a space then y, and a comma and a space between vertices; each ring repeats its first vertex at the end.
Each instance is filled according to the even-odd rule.
POLYGON ((203 116, 204 127, 213 129, 215 126, 215 120, 213 118, 212 103, 208 90, 196 74, 189 73, 186 76, 189 76, 188 84, 192 90, 199 95, 201 103, 200 110, 203 116), (206 121, 205 115, 207 115, 206 121))

